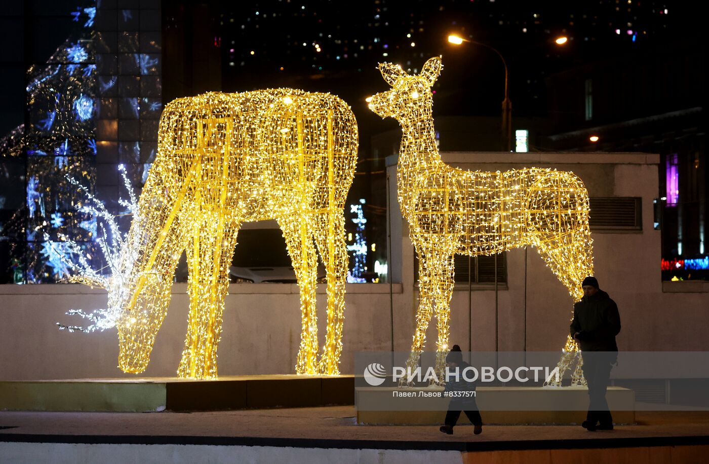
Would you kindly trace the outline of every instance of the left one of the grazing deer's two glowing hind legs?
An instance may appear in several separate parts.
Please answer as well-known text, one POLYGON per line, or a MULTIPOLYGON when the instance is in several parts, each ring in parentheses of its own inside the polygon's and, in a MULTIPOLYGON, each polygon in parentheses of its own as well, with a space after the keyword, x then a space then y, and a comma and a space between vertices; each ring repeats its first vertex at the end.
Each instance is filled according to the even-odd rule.
POLYGON ((279 219, 291 256, 293 268, 301 293, 301 346, 296 360, 296 374, 315 375, 318 373, 318 316, 316 314, 316 285, 318 278, 318 256, 311 224, 313 218, 301 216, 299 221, 292 218, 279 219))

